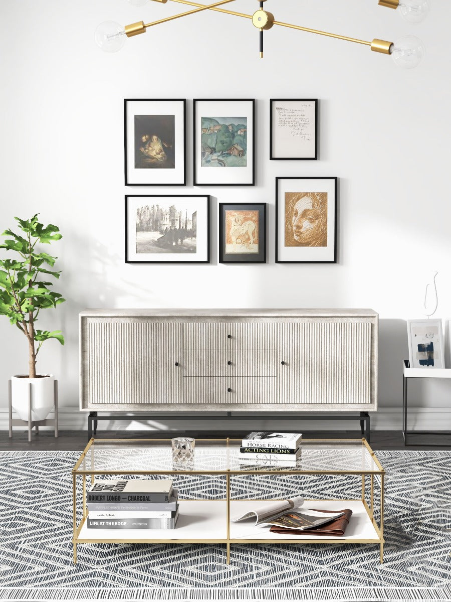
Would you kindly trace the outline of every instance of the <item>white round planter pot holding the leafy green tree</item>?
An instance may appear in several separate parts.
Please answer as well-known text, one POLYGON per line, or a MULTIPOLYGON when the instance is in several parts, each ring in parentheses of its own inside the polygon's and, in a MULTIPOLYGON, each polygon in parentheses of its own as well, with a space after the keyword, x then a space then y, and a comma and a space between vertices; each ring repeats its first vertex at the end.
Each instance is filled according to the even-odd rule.
POLYGON ((55 406, 55 377, 42 374, 28 378, 22 374, 11 376, 11 405, 21 420, 28 421, 28 395, 31 383, 31 420, 45 420, 55 406))

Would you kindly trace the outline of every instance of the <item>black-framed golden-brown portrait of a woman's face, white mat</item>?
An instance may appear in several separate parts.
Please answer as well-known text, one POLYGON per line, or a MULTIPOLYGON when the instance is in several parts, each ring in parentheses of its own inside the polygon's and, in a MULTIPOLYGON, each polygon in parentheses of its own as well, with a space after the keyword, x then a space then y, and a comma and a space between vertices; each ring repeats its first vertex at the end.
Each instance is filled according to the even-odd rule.
POLYGON ((275 261, 336 263, 337 178, 275 179, 275 261))

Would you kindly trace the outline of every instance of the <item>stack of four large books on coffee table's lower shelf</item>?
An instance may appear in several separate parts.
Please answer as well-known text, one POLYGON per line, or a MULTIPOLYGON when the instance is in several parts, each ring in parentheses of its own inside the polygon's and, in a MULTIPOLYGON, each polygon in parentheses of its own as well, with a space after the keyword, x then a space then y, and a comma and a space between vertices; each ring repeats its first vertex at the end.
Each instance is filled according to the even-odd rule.
POLYGON ((175 529, 178 491, 168 479, 94 481, 87 494, 89 529, 175 529))

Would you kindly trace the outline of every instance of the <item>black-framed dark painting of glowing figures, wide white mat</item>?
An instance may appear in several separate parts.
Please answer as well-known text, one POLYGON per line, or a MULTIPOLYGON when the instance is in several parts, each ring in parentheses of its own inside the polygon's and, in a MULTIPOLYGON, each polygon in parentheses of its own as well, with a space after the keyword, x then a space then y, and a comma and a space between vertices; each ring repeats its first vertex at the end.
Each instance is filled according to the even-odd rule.
POLYGON ((185 99, 124 100, 125 184, 186 184, 185 99))

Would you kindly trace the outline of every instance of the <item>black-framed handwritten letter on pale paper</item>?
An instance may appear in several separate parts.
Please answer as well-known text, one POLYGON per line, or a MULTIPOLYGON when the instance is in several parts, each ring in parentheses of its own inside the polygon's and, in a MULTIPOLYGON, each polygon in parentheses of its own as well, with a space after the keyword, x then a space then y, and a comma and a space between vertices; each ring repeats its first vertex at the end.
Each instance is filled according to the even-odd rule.
POLYGON ((270 159, 318 159, 318 99, 272 98, 270 159))

